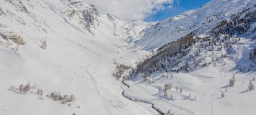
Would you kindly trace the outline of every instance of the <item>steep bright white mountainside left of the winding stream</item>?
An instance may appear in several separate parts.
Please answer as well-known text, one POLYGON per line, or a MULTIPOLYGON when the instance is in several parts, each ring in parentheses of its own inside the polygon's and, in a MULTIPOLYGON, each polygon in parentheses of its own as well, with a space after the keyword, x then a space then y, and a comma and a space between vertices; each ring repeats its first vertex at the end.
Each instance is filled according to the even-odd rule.
POLYGON ((101 14, 80 0, 0 1, 0 114, 154 114, 121 95, 112 77, 115 63, 132 65, 147 52, 126 42, 145 27, 141 21, 101 14), (43 99, 10 86, 30 83, 43 99), (69 104, 46 97, 74 95, 69 104), (68 106, 69 105, 69 106, 68 106))

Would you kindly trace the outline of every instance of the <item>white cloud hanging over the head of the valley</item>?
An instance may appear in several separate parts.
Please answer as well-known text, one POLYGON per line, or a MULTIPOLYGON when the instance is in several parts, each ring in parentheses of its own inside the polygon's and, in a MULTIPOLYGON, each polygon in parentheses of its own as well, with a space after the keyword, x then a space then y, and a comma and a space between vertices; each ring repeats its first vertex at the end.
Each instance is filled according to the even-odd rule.
POLYGON ((120 18, 144 19, 156 11, 166 9, 173 0, 86 0, 100 12, 114 14, 120 18))

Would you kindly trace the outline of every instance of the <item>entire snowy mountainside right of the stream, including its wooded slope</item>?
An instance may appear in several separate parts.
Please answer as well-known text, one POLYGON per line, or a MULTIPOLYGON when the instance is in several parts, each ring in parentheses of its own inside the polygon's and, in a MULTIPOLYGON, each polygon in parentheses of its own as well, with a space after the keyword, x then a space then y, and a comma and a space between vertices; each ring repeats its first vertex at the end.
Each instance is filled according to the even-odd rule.
POLYGON ((136 42, 157 50, 132 70, 125 96, 164 114, 255 114, 256 1, 213 0, 170 20, 136 42))

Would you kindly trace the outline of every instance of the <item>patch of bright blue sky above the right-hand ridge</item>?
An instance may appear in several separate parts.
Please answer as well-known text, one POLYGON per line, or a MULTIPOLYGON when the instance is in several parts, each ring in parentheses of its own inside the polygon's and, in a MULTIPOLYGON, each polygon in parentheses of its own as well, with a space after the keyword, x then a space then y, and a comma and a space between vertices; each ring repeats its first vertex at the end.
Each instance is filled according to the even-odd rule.
MULTIPOLYGON (((175 1, 172 8, 164 9, 162 11, 156 12, 155 14, 151 14, 151 16, 146 17, 144 21, 153 22, 153 21, 161 21, 167 17, 173 17, 176 14, 180 14, 190 9, 196 9, 203 4, 206 4, 210 0, 179 0, 179 2, 175 1)), ((164 4, 169 5, 169 4, 164 4)))

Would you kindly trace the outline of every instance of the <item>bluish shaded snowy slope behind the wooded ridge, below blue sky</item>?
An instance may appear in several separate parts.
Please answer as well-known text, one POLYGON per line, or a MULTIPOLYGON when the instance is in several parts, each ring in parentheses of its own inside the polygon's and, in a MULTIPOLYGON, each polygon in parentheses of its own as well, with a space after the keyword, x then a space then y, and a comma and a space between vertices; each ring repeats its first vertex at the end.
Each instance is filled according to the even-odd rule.
POLYGON ((240 12, 250 0, 212 0, 199 9, 184 12, 165 19, 146 29, 144 36, 136 42, 144 50, 155 48, 176 41, 190 32, 203 34, 210 31, 219 22, 229 19, 240 12))

